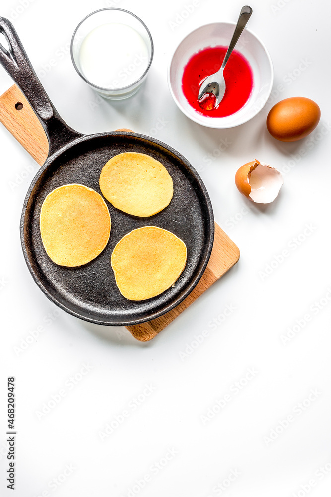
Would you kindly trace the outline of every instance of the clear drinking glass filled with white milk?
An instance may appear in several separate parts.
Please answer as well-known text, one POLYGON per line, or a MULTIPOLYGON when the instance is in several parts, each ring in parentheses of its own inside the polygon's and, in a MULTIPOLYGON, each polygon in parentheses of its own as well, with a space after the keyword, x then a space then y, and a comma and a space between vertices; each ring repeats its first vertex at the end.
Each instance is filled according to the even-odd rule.
POLYGON ((76 27, 71 59, 77 73, 100 95, 113 100, 138 91, 153 60, 147 26, 121 8, 96 10, 76 27))

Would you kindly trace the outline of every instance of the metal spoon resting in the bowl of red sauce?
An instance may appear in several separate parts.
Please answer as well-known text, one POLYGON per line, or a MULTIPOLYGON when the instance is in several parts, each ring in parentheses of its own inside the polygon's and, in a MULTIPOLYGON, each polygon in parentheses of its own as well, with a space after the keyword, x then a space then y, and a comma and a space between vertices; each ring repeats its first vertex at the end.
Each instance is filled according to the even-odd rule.
POLYGON ((234 30, 229 48, 225 54, 223 63, 217 71, 217 73, 212 74, 211 76, 207 76, 199 86, 199 95, 198 100, 201 100, 205 93, 213 93, 216 97, 215 108, 220 104, 224 93, 225 93, 225 80, 223 76, 223 71, 225 68, 225 64, 229 60, 230 55, 232 54, 232 50, 234 49, 239 36, 243 32, 244 27, 247 24, 248 19, 251 17, 253 9, 248 5, 245 5, 239 14, 238 22, 236 28, 234 30))

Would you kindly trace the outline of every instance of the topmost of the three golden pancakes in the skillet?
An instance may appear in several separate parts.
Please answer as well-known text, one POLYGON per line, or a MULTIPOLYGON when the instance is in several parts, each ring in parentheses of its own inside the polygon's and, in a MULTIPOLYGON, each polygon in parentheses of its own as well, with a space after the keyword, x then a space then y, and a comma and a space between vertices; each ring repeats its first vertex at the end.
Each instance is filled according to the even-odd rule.
POLYGON ((162 211, 174 194, 171 176, 163 164, 138 152, 112 157, 101 171, 100 189, 114 207, 139 217, 162 211))

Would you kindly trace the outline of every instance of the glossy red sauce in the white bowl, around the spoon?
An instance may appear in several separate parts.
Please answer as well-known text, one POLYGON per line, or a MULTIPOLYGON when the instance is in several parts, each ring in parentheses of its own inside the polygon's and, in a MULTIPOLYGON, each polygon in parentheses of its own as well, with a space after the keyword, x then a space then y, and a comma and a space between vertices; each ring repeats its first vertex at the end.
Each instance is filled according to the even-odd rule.
POLYGON ((184 68, 182 78, 183 93, 199 114, 208 117, 226 117, 238 112, 253 89, 253 73, 248 61, 234 50, 224 69, 226 90, 224 97, 215 108, 216 97, 208 93, 198 101, 199 85, 211 74, 219 70, 225 57, 226 47, 208 47, 194 54, 184 68))

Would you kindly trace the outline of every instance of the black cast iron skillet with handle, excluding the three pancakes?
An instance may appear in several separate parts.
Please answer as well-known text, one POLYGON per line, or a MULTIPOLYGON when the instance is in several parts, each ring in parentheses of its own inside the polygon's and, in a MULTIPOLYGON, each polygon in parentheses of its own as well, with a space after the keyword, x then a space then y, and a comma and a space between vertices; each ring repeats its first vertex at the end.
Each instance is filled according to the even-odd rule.
POLYGON ((213 213, 201 178, 181 154, 154 138, 127 132, 82 135, 71 129, 50 102, 12 24, 3 17, 0 32, 10 47, 8 51, 0 44, 0 62, 27 97, 49 141, 48 158, 26 195, 20 226, 24 257, 35 282, 59 307, 92 323, 133 325, 170 311, 198 283, 213 244, 213 213), (169 206, 152 217, 138 218, 106 201, 112 228, 104 251, 81 267, 56 265, 47 256, 40 237, 39 216, 46 195, 69 183, 89 186, 101 194, 102 167, 112 156, 127 151, 149 154, 166 167, 174 182, 169 206), (167 229, 184 240, 187 264, 174 287, 152 299, 133 302, 119 292, 110 257, 120 238, 148 225, 167 229))

